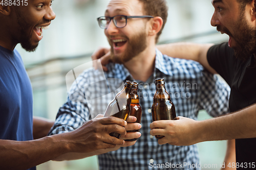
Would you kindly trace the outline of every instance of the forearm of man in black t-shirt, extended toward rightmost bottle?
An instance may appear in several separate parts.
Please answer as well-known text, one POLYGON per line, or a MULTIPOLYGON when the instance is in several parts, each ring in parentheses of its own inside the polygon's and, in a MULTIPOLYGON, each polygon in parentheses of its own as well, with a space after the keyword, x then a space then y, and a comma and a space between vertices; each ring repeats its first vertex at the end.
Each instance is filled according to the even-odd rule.
POLYGON ((222 117, 198 122, 198 142, 256 137, 256 105, 222 117))

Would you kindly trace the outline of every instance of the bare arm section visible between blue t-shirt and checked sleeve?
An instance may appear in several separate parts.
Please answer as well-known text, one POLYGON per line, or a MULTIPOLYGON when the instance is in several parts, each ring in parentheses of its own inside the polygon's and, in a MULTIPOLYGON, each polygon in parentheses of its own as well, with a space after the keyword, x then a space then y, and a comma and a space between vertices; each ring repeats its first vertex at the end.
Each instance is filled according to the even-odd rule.
POLYGON ((53 124, 54 122, 49 119, 34 116, 33 117, 33 138, 39 139, 47 136, 53 124))

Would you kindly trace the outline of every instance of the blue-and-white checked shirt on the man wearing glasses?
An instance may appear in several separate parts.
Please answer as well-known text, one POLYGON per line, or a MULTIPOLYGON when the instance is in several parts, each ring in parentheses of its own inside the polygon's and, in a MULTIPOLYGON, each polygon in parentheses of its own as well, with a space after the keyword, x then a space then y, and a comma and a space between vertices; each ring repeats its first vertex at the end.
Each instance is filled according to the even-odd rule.
MULTIPOLYGON (((109 71, 104 72, 104 75, 97 75, 97 71, 95 74, 94 69, 83 71, 76 79, 76 83, 72 85, 67 103, 59 109, 50 135, 75 130, 95 117, 90 112, 104 114, 108 103, 121 89, 117 89, 120 87, 118 80, 134 81, 129 71, 121 64, 110 63, 108 69, 109 71), (105 86, 108 90, 105 90, 105 86), (93 107, 95 105, 98 107, 93 107)), ((131 147, 98 155, 100 169, 200 169, 193 166, 200 163, 196 144, 159 145, 157 139, 150 135, 151 107, 156 91, 155 79, 158 78, 164 78, 166 90, 175 105, 177 116, 197 120, 201 109, 205 109, 211 116, 219 116, 229 111, 230 88, 225 82, 205 71, 198 62, 171 58, 162 55, 156 49, 154 74, 146 82, 137 81, 140 83, 138 94, 142 107, 142 128, 140 129, 142 135, 131 147), (190 166, 183 166, 183 162, 190 166), (165 164, 165 166, 159 168, 158 164, 165 164), (169 166, 170 164, 179 165, 170 168, 168 164, 169 166)))

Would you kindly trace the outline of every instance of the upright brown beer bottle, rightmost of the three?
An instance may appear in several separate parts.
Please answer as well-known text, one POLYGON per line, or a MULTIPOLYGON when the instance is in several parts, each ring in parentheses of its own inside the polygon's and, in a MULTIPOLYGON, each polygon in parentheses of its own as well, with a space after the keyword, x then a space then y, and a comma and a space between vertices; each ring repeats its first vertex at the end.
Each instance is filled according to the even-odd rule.
MULTIPOLYGON (((156 79, 156 93, 152 105, 152 119, 156 120, 176 120, 175 106, 170 100, 170 95, 165 89, 164 79, 156 79)), ((156 138, 163 138, 162 135, 156 135, 156 138)))

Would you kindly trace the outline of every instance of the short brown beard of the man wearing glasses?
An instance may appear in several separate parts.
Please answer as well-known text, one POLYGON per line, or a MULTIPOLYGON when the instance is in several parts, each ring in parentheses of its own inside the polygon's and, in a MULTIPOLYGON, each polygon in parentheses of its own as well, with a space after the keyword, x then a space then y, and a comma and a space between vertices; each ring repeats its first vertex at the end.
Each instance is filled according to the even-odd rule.
MULTIPOLYGON (((125 38, 128 39, 127 37, 125 38)), ((111 61, 114 63, 124 64, 125 62, 132 60, 134 57, 136 57, 145 50, 145 48, 147 47, 146 33, 141 32, 138 35, 131 37, 129 41, 126 42, 128 44, 126 50, 121 57, 114 55, 113 44, 112 42, 110 42, 110 40, 109 43, 111 45, 111 61)))

